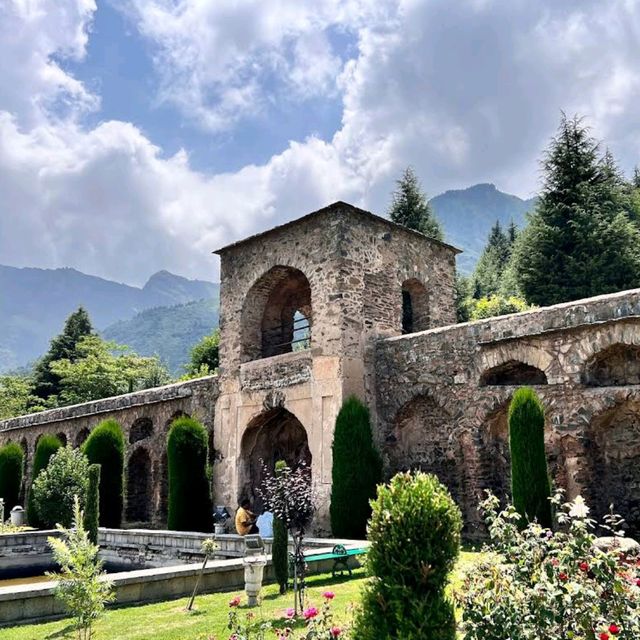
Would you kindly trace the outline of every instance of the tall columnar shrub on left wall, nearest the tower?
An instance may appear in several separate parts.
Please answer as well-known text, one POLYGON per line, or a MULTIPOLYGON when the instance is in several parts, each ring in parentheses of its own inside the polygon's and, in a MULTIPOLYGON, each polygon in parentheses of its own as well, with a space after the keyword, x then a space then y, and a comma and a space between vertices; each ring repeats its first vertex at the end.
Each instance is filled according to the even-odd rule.
POLYGON ((176 418, 167 439, 169 464, 168 527, 211 531, 213 513, 207 473, 207 432, 193 418, 176 418))

